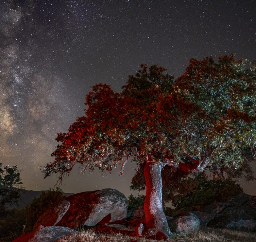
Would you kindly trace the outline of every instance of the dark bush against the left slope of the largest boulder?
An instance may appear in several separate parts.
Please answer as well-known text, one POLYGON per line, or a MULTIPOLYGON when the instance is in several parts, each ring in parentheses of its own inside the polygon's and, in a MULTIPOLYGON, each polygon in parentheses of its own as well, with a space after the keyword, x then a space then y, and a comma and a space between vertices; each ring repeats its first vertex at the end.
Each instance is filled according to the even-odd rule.
POLYGON ((37 219, 54 203, 62 200, 65 196, 62 190, 57 188, 47 192, 43 191, 39 198, 34 198, 25 209, 25 220, 28 230, 32 230, 37 219))

